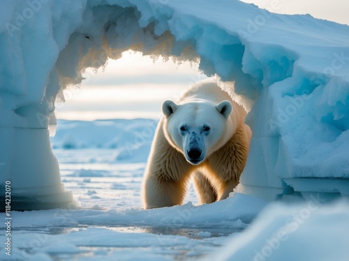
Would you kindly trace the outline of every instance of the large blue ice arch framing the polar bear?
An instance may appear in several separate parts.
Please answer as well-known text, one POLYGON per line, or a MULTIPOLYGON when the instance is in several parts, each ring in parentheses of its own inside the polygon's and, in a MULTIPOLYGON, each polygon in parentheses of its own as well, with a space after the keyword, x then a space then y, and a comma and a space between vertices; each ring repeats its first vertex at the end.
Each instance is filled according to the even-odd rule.
POLYGON ((0 184, 11 181, 13 207, 70 203, 48 139, 54 101, 84 68, 126 49, 200 58, 200 69, 235 81, 235 93, 253 103, 237 191, 269 200, 348 196, 348 26, 223 0, 0 6, 0 184))

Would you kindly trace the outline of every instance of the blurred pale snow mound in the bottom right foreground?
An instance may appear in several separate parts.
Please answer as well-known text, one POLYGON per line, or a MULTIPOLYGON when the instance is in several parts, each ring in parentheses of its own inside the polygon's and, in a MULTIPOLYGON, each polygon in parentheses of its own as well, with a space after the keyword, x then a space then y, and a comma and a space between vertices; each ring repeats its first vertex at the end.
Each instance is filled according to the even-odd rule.
POLYGON ((321 203, 315 197, 292 207, 273 203, 248 231, 206 260, 347 260, 349 237, 341 231, 349 229, 348 202, 321 203))

